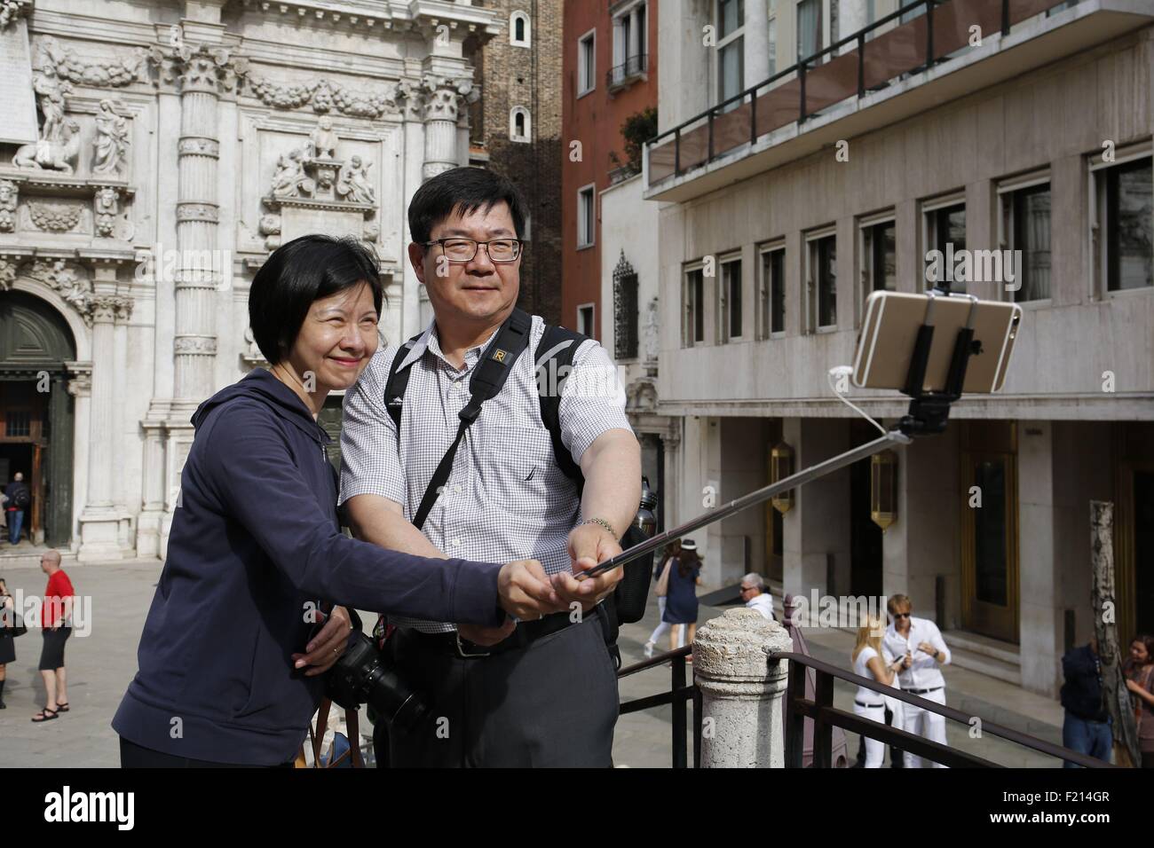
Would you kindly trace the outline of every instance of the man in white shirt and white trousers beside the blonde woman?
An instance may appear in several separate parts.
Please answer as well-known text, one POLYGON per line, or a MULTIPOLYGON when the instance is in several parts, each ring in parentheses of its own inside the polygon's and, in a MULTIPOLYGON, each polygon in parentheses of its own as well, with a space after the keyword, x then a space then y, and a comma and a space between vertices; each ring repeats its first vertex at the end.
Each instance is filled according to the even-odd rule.
MULTIPOLYGON (((945 704, 945 677, 938 666, 950 662, 950 648, 942 639, 942 631, 929 618, 911 616, 913 603, 902 594, 891 595, 886 603, 892 618, 885 630, 882 646, 889 659, 906 658, 898 684, 901 691, 916 695, 920 698, 945 704)), ((913 704, 902 704, 902 730, 917 734, 926 738, 946 744, 945 716, 931 713, 913 704)), ((922 768, 921 757, 906 751, 906 767, 922 768)), ((935 768, 945 766, 934 763, 935 768)))

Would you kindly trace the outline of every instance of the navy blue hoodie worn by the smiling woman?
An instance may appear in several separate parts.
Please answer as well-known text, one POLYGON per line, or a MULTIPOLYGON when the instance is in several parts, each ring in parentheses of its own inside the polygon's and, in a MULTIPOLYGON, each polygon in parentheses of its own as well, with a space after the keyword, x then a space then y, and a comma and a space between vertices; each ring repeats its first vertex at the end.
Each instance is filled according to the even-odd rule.
MULTIPOLYGON (((334 603, 497 625, 500 565, 429 560, 345 536, 328 434, 256 369, 193 415, 140 670, 112 727, 144 748, 246 765, 291 760, 323 695, 292 668, 334 603)), ((304 669, 302 669, 304 670, 304 669)))

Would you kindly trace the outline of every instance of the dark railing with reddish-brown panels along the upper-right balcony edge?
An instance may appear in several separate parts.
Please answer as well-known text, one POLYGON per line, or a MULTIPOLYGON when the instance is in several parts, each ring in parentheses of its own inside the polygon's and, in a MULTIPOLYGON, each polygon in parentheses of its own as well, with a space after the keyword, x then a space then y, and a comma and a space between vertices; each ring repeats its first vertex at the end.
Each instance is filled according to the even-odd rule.
MULTIPOLYGON (((969 44, 971 28, 1010 32, 1062 0, 915 0, 869 27, 778 72, 646 145, 649 185, 680 177, 788 123, 864 97, 969 44), (891 27, 902 16, 917 17, 891 27), (881 31, 883 28, 885 31, 881 31)), ((612 73, 612 72, 610 72, 612 73)))

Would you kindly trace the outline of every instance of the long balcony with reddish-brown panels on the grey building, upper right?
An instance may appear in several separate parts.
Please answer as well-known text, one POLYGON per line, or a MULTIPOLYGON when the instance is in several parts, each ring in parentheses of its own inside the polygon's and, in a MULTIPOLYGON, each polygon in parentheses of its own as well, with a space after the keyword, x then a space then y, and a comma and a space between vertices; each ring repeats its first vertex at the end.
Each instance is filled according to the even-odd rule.
POLYGON ((1011 33, 1058 6, 915 0, 654 137, 645 149, 645 196, 699 196, 1148 25, 1154 15, 1154 2, 1080 0, 1011 33), (975 25, 981 46, 971 46, 975 25))

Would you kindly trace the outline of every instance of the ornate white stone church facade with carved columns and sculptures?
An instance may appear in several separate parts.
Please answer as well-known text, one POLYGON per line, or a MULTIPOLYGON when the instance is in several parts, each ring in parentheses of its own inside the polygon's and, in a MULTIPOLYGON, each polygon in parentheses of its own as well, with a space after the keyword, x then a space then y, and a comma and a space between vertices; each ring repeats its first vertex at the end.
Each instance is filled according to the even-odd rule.
POLYGON ((405 209, 467 162, 463 45, 507 23, 440 0, 95 2, 0 0, 0 385, 47 375, 35 523, 81 561, 163 555, 189 417, 262 361, 248 285, 271 249, 370 242, 384 337, 418 329, 405 209))

